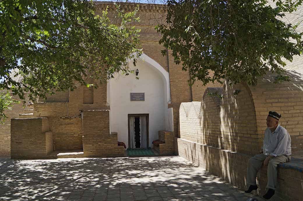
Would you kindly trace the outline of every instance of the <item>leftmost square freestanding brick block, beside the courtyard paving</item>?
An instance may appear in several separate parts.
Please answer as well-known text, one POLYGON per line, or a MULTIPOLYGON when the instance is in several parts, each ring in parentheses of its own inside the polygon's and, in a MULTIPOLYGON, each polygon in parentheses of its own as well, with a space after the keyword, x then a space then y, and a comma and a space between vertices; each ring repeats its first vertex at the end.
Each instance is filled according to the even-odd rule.
POLYGON ((52 138, 48 118, 11 119, 11 158, 46 158, 52 138))

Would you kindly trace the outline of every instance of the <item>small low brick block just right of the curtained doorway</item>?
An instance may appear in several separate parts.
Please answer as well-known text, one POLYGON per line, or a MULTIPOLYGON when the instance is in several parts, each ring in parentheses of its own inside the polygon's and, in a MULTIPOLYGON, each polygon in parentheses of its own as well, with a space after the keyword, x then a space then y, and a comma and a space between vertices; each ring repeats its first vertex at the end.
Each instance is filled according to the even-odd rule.
POLYGON ((159 144, 159 146, 154 145, 154 149, 160 154, 171 154, 175 153, 175 135, 172 131, 160 130, 159 140, 164 141, 164 144, 159 144))

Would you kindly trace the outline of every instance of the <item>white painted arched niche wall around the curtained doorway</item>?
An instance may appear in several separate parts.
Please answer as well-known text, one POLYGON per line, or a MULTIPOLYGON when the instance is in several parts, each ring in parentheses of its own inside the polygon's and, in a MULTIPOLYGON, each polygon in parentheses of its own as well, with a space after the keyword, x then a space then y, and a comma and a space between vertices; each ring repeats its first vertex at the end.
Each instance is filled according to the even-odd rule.
MULTIPOLYGON (((128 147, 128 114, 149 114, 149 147, 158 139, 158 131, 172 126, 171 108, 165 76, 148 62, 138 61, 139 80, 134 74, 118 76, 109 81, 110 130, 118 133, 118 141, 128 147), (145 93, 145 101, 130 101, 130 93, 145 93)), ((161 67, 162 68, 162 67, 161 67)), ((167 72, 166 72, 167 73, 167 72)), ((168 80, 169 81, 169 80, 168 80)), ((168 84, 169 85, 169 84, 168 84)), ((169 91, 170 94, 170 91, 169 91)))

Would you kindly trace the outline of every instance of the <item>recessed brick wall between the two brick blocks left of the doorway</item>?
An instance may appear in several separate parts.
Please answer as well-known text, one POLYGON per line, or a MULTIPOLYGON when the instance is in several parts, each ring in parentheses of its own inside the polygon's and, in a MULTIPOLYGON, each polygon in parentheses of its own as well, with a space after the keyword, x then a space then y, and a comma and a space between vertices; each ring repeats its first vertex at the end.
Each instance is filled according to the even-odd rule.
MULTIPOLYGON (((58 95, 60 96, 60 94, 58 95)), ((57 96, 57 94, 53 96, 57 96)), ((74 91, 69 92, 67 103, 35 103, 34 117, 49 118, 55 150, 83 149, 80 110, 107 108, 105 105, 106 84, 100 85, 97 89, 79 86, 74 91)))

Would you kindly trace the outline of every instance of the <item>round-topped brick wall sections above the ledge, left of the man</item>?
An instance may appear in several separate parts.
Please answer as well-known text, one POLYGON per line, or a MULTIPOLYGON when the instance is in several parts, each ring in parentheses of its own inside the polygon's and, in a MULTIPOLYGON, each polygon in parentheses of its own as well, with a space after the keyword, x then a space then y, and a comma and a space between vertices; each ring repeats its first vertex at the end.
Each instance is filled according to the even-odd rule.
POLYGON ((250 154, 260 149, 256 131, 255 107, 245 84, 207 88, 202 102, 180 106, 182 139, 250 154), (235 90, 240 90, 236 96, 235 90), (223 98, 207 95, 215 91, 223 98))

